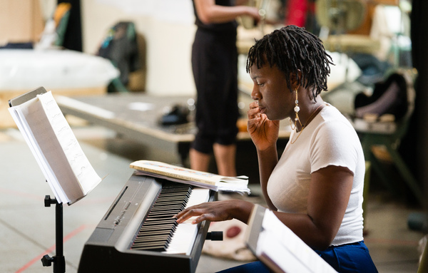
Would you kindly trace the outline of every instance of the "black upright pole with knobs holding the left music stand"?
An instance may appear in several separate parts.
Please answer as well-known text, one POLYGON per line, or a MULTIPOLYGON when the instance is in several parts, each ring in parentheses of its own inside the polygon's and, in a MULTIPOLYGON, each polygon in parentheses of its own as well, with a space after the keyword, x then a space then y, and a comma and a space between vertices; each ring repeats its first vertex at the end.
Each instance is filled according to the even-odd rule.
POLYGON ((63 206, 59 204, 55 198, 49 195, 45 196, 45 207, 51 207, 51 204, 56 204, 55 207, 55 240, 56 240, 56 255, 49 257, 48 254, 41 258, 41 263, 44 267, 50 267, 54 263, 54 273, 66 272, 66 259, 63 256, 63 206))

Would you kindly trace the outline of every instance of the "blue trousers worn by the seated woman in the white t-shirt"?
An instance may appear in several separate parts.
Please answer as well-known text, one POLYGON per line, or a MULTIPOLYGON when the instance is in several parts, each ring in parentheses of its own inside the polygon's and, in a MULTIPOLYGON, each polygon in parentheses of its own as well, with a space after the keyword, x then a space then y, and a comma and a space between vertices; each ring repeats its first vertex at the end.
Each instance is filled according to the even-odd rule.
MULTIPOLYGON (((342 244, 336 247, 328 247, 324 251, 315 250, 328 264, 340 273, 377 273, 369 249, 365 243, 355 242, 342 244)), ((271 273, 262 262, 250 262, 238 267, 225 269, 219 273, 271 273)))

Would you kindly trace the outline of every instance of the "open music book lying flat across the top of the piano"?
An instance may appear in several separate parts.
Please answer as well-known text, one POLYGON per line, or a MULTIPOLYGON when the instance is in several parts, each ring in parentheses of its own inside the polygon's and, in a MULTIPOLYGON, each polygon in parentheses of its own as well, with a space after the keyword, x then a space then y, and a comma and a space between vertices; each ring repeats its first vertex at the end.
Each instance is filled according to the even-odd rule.
POLYGON ((248 177, 246 176, 215 175, 210 172, 200 172, 151 160, 138 160, 131 163, 130 167, 138 170, 136 172, 137 175, 160 177, 175 182, 206 187, 215 191, 250 192, 250 189, 248 189, 248 177))

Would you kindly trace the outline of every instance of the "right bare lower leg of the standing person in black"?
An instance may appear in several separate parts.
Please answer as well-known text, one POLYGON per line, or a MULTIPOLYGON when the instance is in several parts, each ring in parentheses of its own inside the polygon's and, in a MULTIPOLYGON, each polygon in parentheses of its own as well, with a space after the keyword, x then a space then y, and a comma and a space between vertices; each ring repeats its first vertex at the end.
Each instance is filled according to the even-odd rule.
POLYGON ((213 145, 215 163, 219 175, 236 176, 236 145, 220 145, 215 143, 213 145))

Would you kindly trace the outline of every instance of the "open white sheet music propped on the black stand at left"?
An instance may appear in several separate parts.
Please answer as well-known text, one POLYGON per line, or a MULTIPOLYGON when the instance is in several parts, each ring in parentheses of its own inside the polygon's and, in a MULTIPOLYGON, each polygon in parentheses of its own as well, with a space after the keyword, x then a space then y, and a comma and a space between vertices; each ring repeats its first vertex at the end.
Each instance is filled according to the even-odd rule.
MULTIPOLYGON (((39 88, 38 95, 9 112, 59 203, 81 199, 93 190, 99 177, 83 153, 52 93, 39 88)), ((33 91, 33 92, 34 92, 33 91)))

